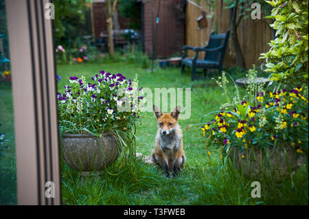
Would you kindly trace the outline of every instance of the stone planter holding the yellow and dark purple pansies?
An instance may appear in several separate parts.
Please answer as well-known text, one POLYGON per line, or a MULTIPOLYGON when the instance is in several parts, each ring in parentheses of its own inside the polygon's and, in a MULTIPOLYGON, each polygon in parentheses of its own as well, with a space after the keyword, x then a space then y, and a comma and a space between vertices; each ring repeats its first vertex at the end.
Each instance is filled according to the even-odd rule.
POLYGON ((258 179, 263 176, 272 176, 273 181, 276 183, 290 177, 290 173, 295 174, 306 163, 306 159, 308 160, 306 155, 297 154, 295 148, 285 145, 276 148, 265 148, 265 150, 247 148, 243 159, 242 152, 237 147, 232 146, 229 156, 238 172, 247 178, 258 179), (286 153, 284 150, 286 150, 286 153))

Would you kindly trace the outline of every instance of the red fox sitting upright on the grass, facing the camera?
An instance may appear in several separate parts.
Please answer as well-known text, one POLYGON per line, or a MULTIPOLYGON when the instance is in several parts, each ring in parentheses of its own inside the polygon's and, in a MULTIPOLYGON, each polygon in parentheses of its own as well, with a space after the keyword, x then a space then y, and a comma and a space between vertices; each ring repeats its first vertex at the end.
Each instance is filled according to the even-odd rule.
POLYGON ((183 133, 177 123, 181 106, 177 106, 171 113, 162 111, 153 105, 153 111, 159 124, 155 139, 155 148, 151 152, 151 159, 164 169, 165 175, 178 175, 178 170, 185 167, 185 151, 183 150, 183 133))

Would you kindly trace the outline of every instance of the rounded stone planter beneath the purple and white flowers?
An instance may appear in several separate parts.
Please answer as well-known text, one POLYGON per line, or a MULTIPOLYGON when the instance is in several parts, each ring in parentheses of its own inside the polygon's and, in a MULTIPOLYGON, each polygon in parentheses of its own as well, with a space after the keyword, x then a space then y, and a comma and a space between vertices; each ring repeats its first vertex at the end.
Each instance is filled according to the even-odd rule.
POLYGON ((64 134, 62 154, 73 169, 82 171, 82 176, 100 174, 119 156, 120 148, 115 138, 104 133, 102 137, 89 134, 64 134))

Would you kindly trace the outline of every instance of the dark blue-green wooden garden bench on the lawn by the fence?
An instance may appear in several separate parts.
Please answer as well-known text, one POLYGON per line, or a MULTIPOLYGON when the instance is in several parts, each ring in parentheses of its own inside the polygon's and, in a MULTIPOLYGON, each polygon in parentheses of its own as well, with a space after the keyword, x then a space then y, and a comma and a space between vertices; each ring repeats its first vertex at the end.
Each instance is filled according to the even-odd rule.
POLYGON ((218 69, 219 73, 222 71, 222 62, 225 58, 225 50, 229 42, 229 31, 225 34, 211 33, 208 45, 204 47, 190 47, 185 45, 183 47, 184 54, 181 57, 181 73, 185 69, 185 65, 192 68, 191 78, 196 80, 196 68, 201 69, 218 69), (192 49, 196 52, 193 58, 187 58, 187 50, 192 49), (204 60, 198 59, 198 53, 205 51, 204 60))

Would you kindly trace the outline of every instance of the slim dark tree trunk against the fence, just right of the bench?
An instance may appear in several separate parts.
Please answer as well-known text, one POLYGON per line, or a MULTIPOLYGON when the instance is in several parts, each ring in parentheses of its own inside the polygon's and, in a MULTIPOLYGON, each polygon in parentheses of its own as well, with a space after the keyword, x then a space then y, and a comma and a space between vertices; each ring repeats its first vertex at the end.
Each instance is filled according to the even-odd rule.
POLYGON ((237 34, 237 27, 240 24, 242 16, 239 17, 236 23, 238 1, 234 0, 234 4, 235 6, 230 9, 229 30, 230 30, 231 41, 233 43, 233 48, 236 54, 236 60, 238 62, 238 66, 241 67, 242 69, 245 69, 246 65, 244 64, 244 58, 242 56, 242 50, 240 49, 240 44, 238 41, 238 34, 237 34))

